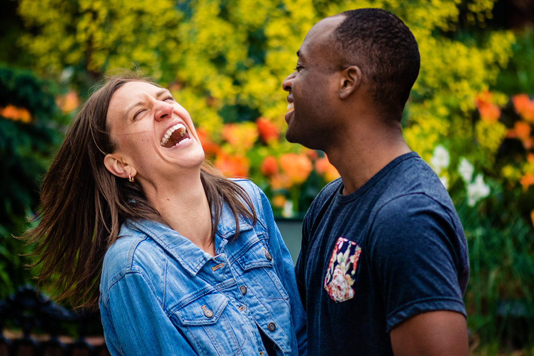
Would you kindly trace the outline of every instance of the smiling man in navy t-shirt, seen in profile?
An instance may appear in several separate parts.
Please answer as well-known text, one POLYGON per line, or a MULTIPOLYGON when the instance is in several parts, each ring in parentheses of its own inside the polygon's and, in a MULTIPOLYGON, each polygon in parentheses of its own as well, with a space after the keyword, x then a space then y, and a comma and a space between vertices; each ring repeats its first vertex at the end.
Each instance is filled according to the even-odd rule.
POLYGON ((419 74, 410 29, 380 9, 313 26, 297 52, 286 138, 341 178, 303 222, 297 282, 310 355, 467 355, 464 230, 400 119, 419 74))

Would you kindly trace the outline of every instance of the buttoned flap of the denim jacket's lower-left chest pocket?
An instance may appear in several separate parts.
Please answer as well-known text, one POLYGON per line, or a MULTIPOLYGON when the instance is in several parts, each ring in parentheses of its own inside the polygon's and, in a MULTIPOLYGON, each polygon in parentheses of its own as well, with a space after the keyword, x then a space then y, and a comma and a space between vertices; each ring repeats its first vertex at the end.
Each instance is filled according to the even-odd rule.
POLYGON ((207 294, 179 308, 175 315, 183 325, 212 325, 228 304, 228 299, 218 293, 207 294))

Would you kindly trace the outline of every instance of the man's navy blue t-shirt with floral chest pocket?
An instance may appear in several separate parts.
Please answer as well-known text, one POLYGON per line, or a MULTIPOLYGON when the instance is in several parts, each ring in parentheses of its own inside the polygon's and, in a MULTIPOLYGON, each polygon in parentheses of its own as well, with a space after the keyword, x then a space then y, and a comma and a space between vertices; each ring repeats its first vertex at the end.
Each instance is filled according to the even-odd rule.
POLYGON ((341 179, 304 218, 297 284, 309 355, 392 355, 389 332, 422 312, 466 315, 464 230, 445 187, 415 152, 356 192, 341 179))

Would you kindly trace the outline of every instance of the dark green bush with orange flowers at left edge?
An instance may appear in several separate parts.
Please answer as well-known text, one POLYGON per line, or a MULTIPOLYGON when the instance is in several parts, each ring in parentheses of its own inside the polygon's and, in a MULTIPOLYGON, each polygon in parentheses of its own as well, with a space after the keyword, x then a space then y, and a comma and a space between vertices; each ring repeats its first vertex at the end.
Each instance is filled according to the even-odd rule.
POLYGON ((28 249, 13 238, 28 227, 40 180, 61 143, 61 116, 50 83, 0 66, 0 299, 30 282, 28 249), (7 108, 7 109, 6 109, 7 108))

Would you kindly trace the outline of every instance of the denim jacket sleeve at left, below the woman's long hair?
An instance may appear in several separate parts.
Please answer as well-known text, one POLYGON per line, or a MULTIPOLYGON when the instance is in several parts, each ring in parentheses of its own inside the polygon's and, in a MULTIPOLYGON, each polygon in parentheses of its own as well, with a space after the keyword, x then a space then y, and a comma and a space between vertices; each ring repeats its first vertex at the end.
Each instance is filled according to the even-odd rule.
POLYGON ((115 355, 196 355, 139 272, 123 275, 109 289, 100 314, 109 352, 115 355))

